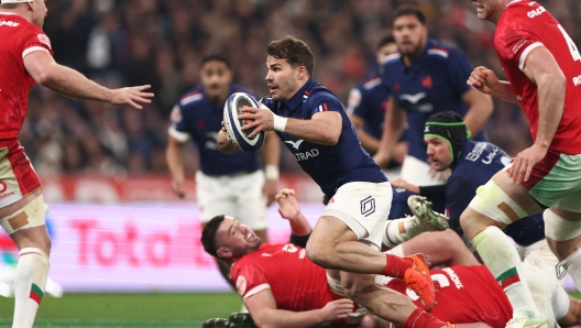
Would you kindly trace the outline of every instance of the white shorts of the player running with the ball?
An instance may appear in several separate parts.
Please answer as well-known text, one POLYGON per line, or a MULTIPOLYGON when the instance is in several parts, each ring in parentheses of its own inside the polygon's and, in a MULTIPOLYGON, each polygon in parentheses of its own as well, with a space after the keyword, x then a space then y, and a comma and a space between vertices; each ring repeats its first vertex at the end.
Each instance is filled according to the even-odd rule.
POLYGON ((388 182, 348 183, 339 187, 322 216, 338 218, 357 234, 359 241, 381 250, 392 198, 392 185, 388 182))

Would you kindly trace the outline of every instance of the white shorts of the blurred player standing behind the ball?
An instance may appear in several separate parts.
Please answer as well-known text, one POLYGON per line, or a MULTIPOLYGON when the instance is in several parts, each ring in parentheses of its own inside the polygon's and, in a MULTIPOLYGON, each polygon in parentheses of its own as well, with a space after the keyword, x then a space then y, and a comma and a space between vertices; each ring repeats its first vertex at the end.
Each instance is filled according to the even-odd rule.
POLYGON ((262 193, 264 172, 210 176, 196 173, 200 222, 219 215, 237 218, 252 230, 266 229, 266 197, 262 193))

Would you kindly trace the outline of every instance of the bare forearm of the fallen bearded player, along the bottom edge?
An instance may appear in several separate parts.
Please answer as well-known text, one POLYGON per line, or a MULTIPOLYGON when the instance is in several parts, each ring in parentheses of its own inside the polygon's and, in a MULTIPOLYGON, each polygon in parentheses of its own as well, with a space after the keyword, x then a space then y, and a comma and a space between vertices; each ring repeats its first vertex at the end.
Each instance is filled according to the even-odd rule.
POLYGON ((252 316, 254 324, 260 328, 313 327, 344 319, 347 314, 353 310, 353 302, 348 298, 330 302, 321 309, 307 311, 277 309, 271 289, 264 289, 244 299, 244 306, 252 316))

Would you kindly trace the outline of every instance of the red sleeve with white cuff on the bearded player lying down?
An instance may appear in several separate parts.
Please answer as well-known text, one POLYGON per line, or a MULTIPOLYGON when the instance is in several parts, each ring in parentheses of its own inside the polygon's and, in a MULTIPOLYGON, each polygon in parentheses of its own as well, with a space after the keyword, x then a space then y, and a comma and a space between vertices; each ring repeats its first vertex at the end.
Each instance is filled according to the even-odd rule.
POLYGON ((232 266, 231 280, 242 299, 271 288, 264 271, 250 261, 235 263, 232 266))

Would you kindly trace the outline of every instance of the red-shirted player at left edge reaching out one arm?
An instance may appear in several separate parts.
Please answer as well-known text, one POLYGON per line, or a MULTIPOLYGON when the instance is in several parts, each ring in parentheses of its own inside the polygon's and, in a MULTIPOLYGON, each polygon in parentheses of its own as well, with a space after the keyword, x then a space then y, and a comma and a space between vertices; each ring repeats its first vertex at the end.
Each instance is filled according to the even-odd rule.
POLYGON ((32 327, 44 295, 51 239, 45 226, 48 207, 42 183, 18 141, 29 91, 34 85, 70 98, 112 105, 151 102, 150 86, 108 89, 53 59, 51 41, 42 31, 44 0, 0 2, 0 225, 20 250, 14 278, 13 327, 32 327))

